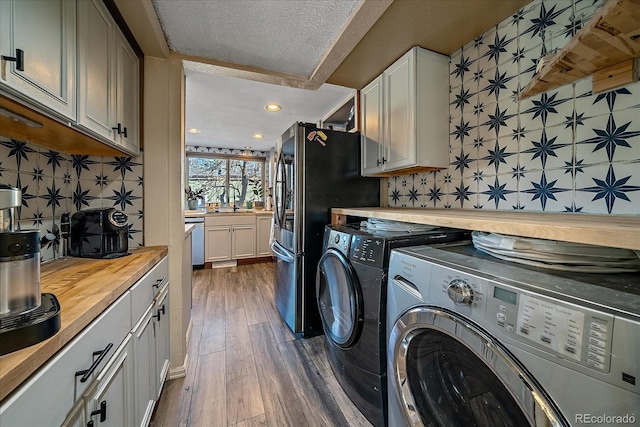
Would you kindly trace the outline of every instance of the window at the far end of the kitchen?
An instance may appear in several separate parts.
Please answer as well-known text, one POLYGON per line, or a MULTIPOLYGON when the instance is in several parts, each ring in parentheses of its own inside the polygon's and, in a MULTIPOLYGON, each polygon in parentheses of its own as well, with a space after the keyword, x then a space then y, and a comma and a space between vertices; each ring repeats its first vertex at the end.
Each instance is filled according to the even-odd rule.
POLYGON ((187 155, 187 185, 204 188, 206 203, 220 205, 264 201, 264 158, 187 155))

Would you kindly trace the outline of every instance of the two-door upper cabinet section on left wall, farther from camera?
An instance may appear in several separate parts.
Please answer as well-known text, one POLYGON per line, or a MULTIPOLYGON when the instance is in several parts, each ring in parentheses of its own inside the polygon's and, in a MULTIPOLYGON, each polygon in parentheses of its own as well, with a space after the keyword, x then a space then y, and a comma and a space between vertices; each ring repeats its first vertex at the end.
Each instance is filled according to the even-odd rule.
POLYGON ((78 124, 137 154, 138 57, 100 0, 78 2, 78 38, 78 124))

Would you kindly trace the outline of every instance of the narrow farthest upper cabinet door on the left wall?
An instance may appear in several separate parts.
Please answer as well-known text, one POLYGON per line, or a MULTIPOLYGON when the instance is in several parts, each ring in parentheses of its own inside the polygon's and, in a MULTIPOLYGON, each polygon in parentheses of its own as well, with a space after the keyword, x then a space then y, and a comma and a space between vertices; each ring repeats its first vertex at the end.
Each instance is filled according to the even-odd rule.
MULTIPOLYGON (((117 123, 120 125, 118 143, 131 154, 138 154, 139 68, 138 57, 127 39, 117 33, 117 123)), ((116 125, 117 126, 117 125, 116 125)))

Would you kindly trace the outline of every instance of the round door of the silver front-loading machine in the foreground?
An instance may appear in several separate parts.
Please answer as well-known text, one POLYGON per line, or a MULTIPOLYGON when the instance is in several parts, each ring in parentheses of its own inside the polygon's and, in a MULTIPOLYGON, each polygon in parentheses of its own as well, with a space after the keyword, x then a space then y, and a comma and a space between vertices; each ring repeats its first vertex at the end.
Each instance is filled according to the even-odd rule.
POLYGON ((469 319, 417 307, 389 337, 392 387, 411 426, 568 426, 526 369, 469 319))

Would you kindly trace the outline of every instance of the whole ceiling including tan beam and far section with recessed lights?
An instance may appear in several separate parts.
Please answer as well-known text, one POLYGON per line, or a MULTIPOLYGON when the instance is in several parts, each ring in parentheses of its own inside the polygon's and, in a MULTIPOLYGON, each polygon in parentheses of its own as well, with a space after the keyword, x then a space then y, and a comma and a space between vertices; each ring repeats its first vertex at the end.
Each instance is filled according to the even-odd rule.
MULTIPOLYGON (((131 6, 114 1, 122 10, 131 6)), ((361 89, 412 46, 450 54, 527 3, 151 0, 172 55, 187 70, 186 128, 202 130, 187 134, 187 144, 256 150, 273 147, 294 121, 320 120, 349 93, 293 88, 326 81, 361 89), (267 101, 282 111, 267 114, 267 101), (265 138, 251 139, 256 132, 265 138)))

